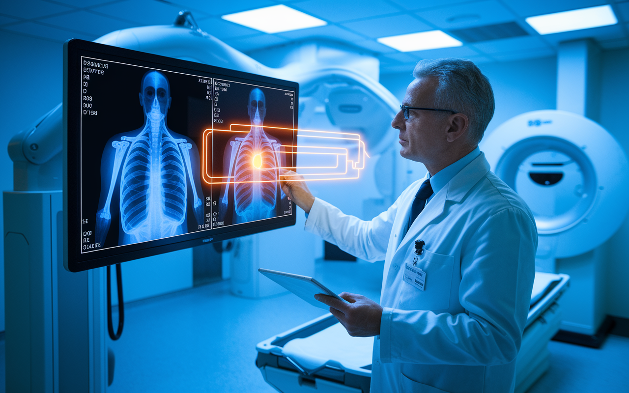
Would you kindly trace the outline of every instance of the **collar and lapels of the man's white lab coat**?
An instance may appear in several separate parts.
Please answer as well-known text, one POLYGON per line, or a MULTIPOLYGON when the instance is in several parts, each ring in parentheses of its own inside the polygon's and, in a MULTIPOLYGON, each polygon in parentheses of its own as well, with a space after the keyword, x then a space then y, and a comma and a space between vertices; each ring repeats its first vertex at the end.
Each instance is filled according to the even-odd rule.
MULTIPOLYGON (((472 162, 470 162, 464 169, 460 170, 458 174, 456 174, 452 180, 448 182, 448 184, 440 189, 440 191, 435 194, 435 196, 430 199, 430 201, 426 204, 426 207, 420 213, 418 218, 413 222, 403 240, 399 243, 398 248, 396 250, 399 251, 401 248, 404 248, 409 241, 415 240, 415 236, 419 233, 422 228, 425 228, 433 219, 441 216, 443 214, 443 210, 445 209, 445 202, 452 201, 455 203, 460 203, 467 192, 474 187, 474 185, 479 182, 487 172, 489 172, 489 162, 487 162, 485 158, 485 153, 481 152, 481 155, 476 157, 472 162)), ((417 188, 423 182, 423 180, 428 179, 428 174, 418 182, 417 188)), ((411 192, 411 195, 415 195, 416 190, 411 192)), ((408 198, 406 203, 404 204, 404 209, 406 210, 406 214, 404 215, 404 219, 401 220, 401 230, 404 230, 405 223, 408 221, 408 215, 410 214, 411 204, 413 204, 413 197, 408 198)))

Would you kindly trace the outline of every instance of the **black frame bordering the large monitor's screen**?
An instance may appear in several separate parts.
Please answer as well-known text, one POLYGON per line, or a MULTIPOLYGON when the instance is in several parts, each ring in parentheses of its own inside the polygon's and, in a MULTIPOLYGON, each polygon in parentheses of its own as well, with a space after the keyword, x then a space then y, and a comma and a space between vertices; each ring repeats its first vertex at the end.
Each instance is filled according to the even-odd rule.
MULTIPOLYGON (((91 53, 92 55, 114 56, 118 58, 128 58, 131 62, 142 62, 143 64, 155 64, 156 68, 162 69, 186 69, 199 75, 208 74, 208 77, 220 75, 221 77, 233 77, 240 80, 249 80, 253 83, 270 84, 294 89, 294 132, 298 128, 299 114, 299 84, 288 80, 275 79, 263 75, 255 75, 238 70, 230 70, 213 65, 206 65, 187 60, 154 55, 152 53, 138 52, 126 48, 112 47, 101 43, 94 43, 84 40, 72 39, 64 43, 64 105, 63 105, 63 185, 64 185, 64 234, 63 252, 64 267, 70 272, 81 272, 92 268, 104 267, 115 263, 127 262, 138 258, 150 257, 161 253, 182 250, 184 248, 206 245, 216 241, 228 240, 240 236, 253 235, 264 231, 275 230, 296 223, 296 209, 292 205, 290 215, 269 218, 268 224, 243 223, 230 225, 211 230, 201 230, 179 235, 180 240, 158 239, 148 241, 148 245, 140 250, 121 250, 112 252, 110 250, 103 253, 81 253, 81 157, 79 154, 69 154, 69 149, 76 152, 81 148, 79 138, 73 138, 81 133, 81 115, 78 111, 71 111, 69 108, 79 108, 81 99, 77 94, 68 94, 81 88, 81 55, 91 53), (70 136, 70 138, 69 138, 70 136), (75 174, 70 180, 68 174, 75 174), (72 206, 70 209, 69 207, 72 206), (74 250, 74 252, 72 251, 74 250), (96 255, 96 257, 94 257, 96 255)), ((295 158, 296 160, 296 158, 295 158)), ((296 162, 294 162, 296 165, 296 162)), ((125 246, 126 247, 126 246, 125 246)))

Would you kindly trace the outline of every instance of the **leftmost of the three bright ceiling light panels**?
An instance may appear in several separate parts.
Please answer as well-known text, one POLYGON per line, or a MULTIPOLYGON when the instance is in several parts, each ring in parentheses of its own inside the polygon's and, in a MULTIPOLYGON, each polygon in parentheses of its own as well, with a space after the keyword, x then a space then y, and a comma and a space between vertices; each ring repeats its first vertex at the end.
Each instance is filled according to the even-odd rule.
POLYGON ((326 21, 304 14, 284 4, 223 15, 221 18, 269 34, 328 24, 326 21))

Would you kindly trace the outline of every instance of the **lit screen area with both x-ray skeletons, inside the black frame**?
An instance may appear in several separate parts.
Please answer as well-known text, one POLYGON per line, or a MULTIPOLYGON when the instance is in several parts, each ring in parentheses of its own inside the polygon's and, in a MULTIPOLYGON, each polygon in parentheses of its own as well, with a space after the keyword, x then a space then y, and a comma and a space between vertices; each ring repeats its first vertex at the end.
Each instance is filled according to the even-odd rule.
POLYGON ((278 180, 295 160, 295 91, 82 62, 81 252, 212 239, 292 214, 278 180))

